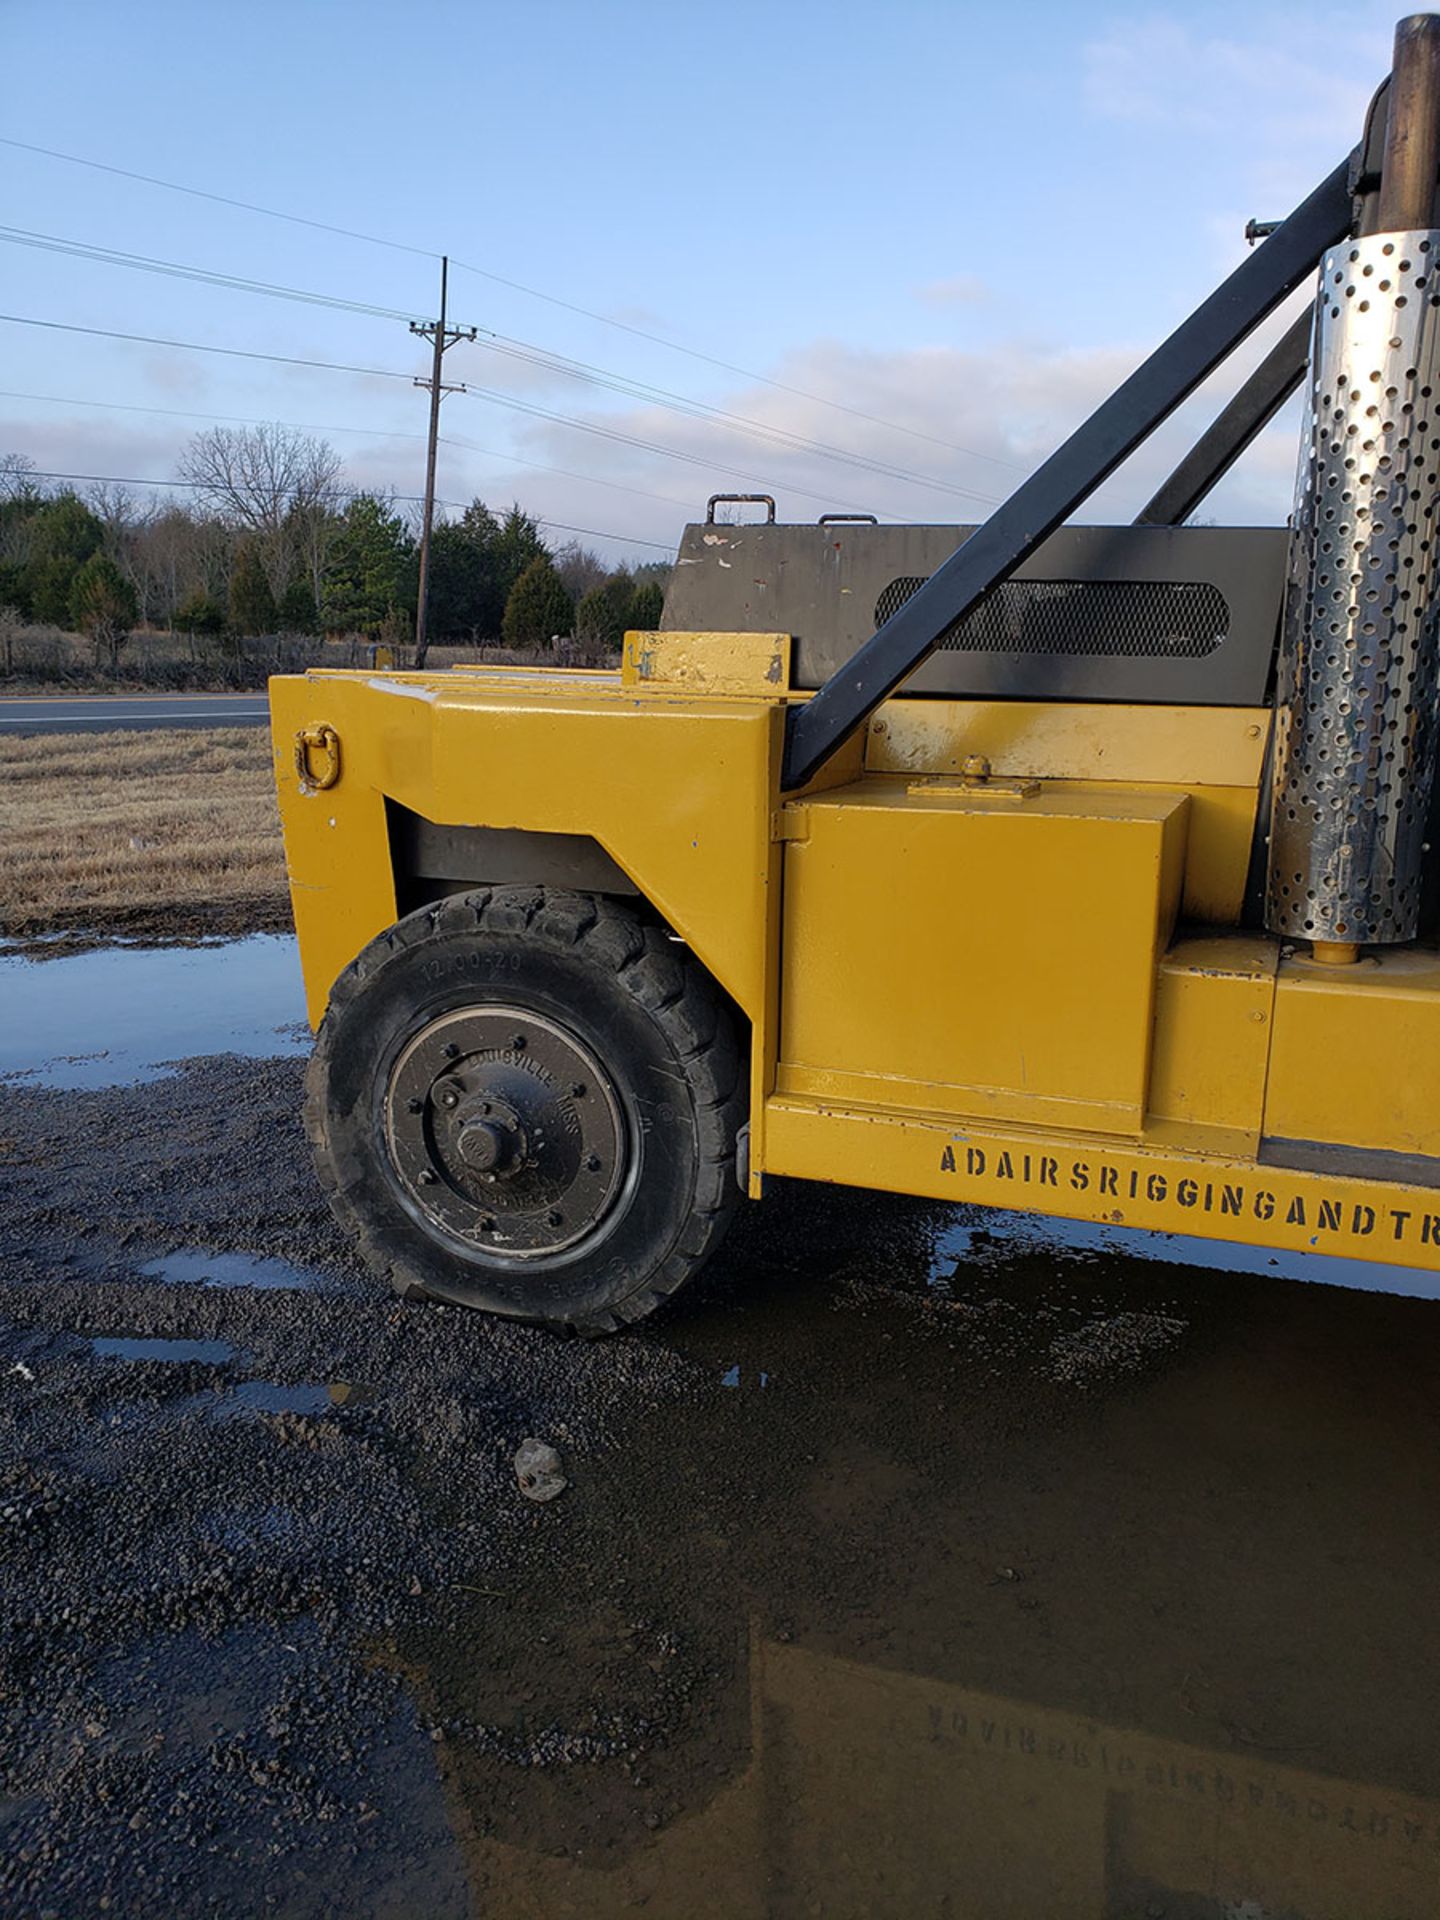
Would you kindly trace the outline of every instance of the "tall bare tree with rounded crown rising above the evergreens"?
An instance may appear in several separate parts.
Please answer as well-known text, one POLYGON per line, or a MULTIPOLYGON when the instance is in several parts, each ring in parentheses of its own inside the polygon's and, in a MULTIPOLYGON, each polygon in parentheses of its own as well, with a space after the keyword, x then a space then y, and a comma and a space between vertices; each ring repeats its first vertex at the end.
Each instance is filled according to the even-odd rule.
POLYGON ((292 426, 211 426, 180 455, 180 476, 253 540, 278 599, 298 566, 319 578, 323 524, 340 492, 340 455, 292 426))

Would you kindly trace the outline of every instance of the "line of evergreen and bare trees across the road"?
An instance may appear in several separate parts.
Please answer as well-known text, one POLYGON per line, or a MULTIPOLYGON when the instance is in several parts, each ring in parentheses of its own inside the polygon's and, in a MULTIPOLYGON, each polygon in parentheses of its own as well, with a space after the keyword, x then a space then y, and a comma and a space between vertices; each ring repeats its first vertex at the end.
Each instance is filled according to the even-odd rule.
MULTIPOLYGON (((180 480, 190 499, 127 486, 54 490, 23 455, 0 457, 0 609, 88 634, 115 662, 136 626, 213 637, 415 632, 415 515, 351 492, 334 449, 284 426, 198 434, 180 480)), ((660 624, 666 564, 609 568, 551 547, 518 505, 474 499, 430 536, 428 636, 438 643, 618 647, 660 624)))

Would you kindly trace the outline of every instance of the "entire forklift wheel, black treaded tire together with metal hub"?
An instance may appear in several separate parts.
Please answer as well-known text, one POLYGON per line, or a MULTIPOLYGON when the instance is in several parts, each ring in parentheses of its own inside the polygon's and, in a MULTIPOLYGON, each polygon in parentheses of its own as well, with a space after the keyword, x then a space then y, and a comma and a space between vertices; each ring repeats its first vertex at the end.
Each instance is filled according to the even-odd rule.
POLYGON ((305 1131, 401 1296, 611 1332, 724 1236, 741 1104, 735 1020, 676 941, 605 897, 495 887, 346 968, 305 1131))

